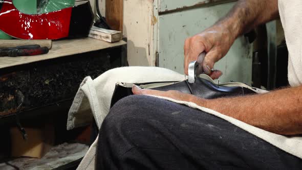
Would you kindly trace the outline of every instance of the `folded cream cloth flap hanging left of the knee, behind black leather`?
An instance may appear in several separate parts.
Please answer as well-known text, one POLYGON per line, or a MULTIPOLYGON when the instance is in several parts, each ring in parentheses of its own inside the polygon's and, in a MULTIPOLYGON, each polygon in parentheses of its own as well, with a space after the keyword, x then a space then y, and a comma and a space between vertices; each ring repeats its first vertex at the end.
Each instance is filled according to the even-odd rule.
POLYGON ((185 75, 156 67, 122 67, 109 70, 94 80, 86 77, 80 84, 69 111, 67 129, 87 125, 93 117, 100 128, 103 119, 109 113, 117 82, 145 83, 185 79, 185 75))

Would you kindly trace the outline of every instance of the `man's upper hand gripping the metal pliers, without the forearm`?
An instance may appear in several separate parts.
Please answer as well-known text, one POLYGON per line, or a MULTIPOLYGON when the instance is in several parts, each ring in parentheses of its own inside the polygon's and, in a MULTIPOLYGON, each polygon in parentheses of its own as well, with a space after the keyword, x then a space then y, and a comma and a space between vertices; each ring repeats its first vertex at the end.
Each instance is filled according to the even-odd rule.
POLYGON ((198 56, 206 52, 203 63, 203 71, 210 75, 212 79, 217 79, 222 75, 221 71, 211 72, 215 62, 224 57, 232 46, 235 37, 228 30, 225 24, 214 25, 200 34, 187 38, 184 46, 185 74, 188 74, 188 66, 191 61, 198 61, 198 56))

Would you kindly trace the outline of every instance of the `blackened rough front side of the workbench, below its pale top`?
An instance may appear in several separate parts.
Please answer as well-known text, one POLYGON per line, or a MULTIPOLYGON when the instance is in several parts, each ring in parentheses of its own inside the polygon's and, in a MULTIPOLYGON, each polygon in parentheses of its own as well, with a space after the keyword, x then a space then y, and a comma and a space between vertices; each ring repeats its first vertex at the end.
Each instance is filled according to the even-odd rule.
POLYGON ((120 49, 0 69, 0 118, 72 99, 84 77, 121 66, 120 49))

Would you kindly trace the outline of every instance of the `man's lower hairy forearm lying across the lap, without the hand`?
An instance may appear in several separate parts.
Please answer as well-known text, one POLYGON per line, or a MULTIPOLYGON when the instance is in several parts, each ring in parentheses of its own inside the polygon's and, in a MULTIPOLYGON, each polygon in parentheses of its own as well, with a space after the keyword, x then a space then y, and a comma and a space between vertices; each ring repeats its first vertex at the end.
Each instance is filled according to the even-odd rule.
POLYGON ((302 134, 302 86, 202 102, 197 104, 257 128, 283 135, 302 134))

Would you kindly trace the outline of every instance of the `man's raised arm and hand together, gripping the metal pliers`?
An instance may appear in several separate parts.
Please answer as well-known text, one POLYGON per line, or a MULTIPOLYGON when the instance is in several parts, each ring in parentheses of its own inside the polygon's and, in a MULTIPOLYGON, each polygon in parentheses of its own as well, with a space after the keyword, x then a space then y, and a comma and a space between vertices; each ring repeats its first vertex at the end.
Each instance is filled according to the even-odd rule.
POLYGON ((278 17, 277 0, 240 0, 231 11, 216 24, 203 32, 189 37, 184 45, 184 68, 188 74, 188 65, 198 60, 202 52, 206 56, 200 65, 203 71, 213 79, 222 73, 211 73, 215 62, 224 57, 233 42, 240 35, 248 32, 257 25, 264 24, 278 17))

